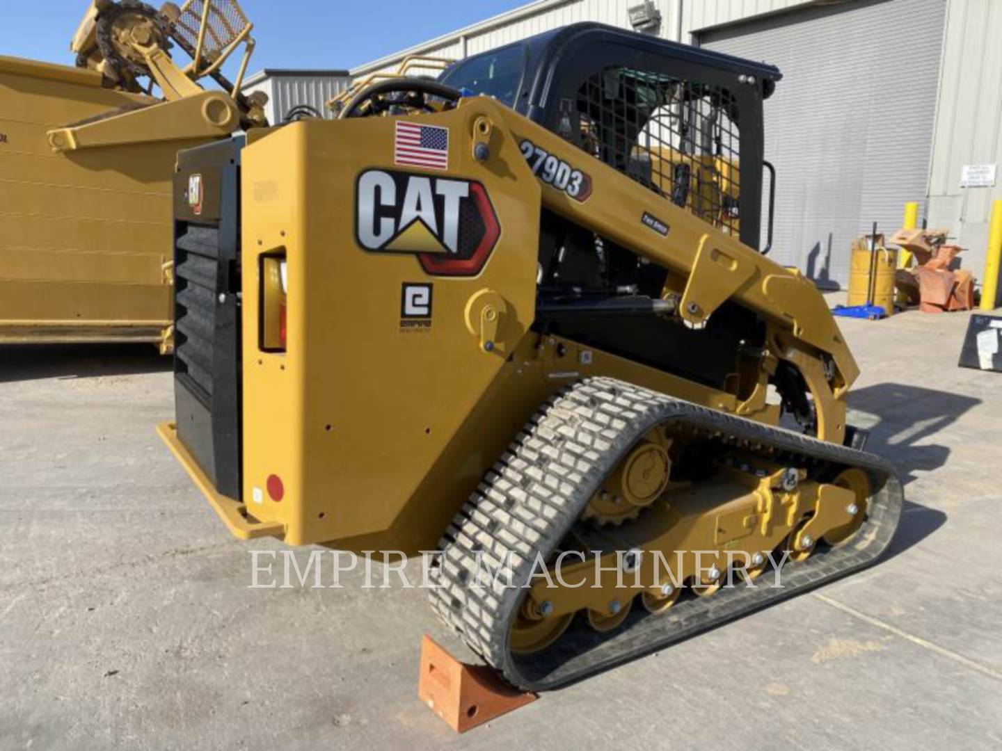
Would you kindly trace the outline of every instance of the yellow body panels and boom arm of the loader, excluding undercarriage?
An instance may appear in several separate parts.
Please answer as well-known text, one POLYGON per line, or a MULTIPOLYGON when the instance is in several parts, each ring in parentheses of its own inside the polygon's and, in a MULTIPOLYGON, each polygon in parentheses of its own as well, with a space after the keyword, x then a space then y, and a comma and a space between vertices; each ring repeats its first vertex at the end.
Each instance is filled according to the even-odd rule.
POLYGON ((358 248, 355 181, 332 179, 386 164, 395 121, 306 121, 248 138, 241 157, 242 498, 259 499, 247 505, 256 520, 283 525, 292 545, 408 552, 433 546, 536 407, 591 374, 775 424, 779 410, 767 404, 766 382, 771 363, 788 359, 805 370, 821 437, 842 443, 844 397, 858 368, 810 281, 595 160, 588 160, 596 188, 586 204, 541 187, 522 139, 570 163, 586 157, 489 99, 466 99, 426 117, 455 134, 453 171, 487 186, 503 249, 478 275, 435 284, 434 322, 420 329, 402 325, 400 308, 386 300, 428 277, 412 254, 358 248), (486 163, 473 154, 484 137, 482 121, 494 154, 486 163), (733 392, 717 391, 559 337, 537 344, 529 325, 541 204, 687 276, 681 314, 693 324, 728 296, 760 310, 775 333, 770 357, 746 376, 753 386, 738 389, 735 382, 733 392), (670 243, 639 221, 621 220, 645 210, 671 222, 670 243), (331 252, 308 250, 319 244, 331 252), (286 351, 262 346, 258 321, 271 316, 249 293, 262 288, 262 259, 277 254, 288 259, 286 351), (493 308, 486 317, 485 307, 493 308), (374 337, 374 330, 392 333, 374 337), (805 355, 818 350, 833 360, 831 380, 805 355), (264 492, 272 476, 286 490, 279 501, 264 492), (374 498, 379 503, 366 501, 374 498))

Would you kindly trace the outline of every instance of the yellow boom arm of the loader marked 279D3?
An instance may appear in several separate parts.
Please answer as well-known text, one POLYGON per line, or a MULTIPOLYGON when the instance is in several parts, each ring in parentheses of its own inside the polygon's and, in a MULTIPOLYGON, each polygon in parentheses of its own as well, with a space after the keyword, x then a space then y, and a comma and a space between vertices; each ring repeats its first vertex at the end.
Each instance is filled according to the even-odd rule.
POLYGON ((858 378, 859 367, 810 279, 512 110, 486 97, 463 100, 461 109, 467 107, 482 112, 479 118, 470 118, 475 122, 474 155, 483 146, 490 151, 495 139, 515 139, 543 184, 546 208, 683 275, 687 281, 679 314, 687 323, 701 325, 727 299, 769 321, 774 331, 772 353, 802 372, 815 398, 819 437, 842 443, 843 398, 858 378), (575 176, 561 187, 566 174, 580 174, 580 181, 575 182, 575 176), (578 185, 576 196, 572 183, 578 185), (831 357, 835 372, 825 372, 818 351, 831 357))

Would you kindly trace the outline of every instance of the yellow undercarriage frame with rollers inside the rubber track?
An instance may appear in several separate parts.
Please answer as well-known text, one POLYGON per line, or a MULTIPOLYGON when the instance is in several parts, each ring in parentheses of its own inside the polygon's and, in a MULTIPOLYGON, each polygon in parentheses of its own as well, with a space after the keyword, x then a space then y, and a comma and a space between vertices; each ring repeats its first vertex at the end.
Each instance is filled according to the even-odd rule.
POLYGON ((618 545, 612 553, 597 562, 568 558, 554 567, 560 586, 539 578, 523 607, 538 612, 548 603, 547 617, 555 618, 582 609, 607 617, 619 615, 616 604, 628 603, 639 589, 645 607, 657 612, 685 587, 700 595, 715 593, 728 571, 757 578, 784 541, 793 555, 806 560, 817 541, 861 518, 862 506, 853 507, 859 499, 850 490, 807 482, 788 491, 782 487, 783 468, 758 469, 761 477, 748 465, 743 470, 730 467, 698 490, 669 490, 628 537, 603 533, 606 542, 618 545), (643 553, 624 570, 617 566, 617 551, 631 548, 643 553), (608 610, 610 603, 614 613, 608 610))

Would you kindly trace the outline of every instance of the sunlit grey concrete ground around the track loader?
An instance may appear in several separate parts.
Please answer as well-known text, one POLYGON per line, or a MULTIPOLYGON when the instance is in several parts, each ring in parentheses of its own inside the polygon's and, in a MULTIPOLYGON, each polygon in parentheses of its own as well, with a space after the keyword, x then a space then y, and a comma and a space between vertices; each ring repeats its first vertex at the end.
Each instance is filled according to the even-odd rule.
POLYGON ((456 737, 415 696, 418 590, 252 590, 153 433, 152 348, 0 352, 0 748, 1002 747, 1002 374, 967 316, 846 320, 852 404, 906 483, 861 575, 456 737))

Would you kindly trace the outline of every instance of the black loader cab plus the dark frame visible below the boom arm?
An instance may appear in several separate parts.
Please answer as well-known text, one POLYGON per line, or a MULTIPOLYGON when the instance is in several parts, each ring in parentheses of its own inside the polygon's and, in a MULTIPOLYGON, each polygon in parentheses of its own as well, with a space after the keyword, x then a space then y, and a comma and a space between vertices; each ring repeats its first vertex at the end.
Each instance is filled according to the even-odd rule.
MULTIPOLYGON (((440 81, 498 99, 700 221, 768 252, 763 102, 780 78, 771 65, 579 23, 458 62, 440 81)), ((667 226, 651 220, 650 229, 666 234, 667 226)), ((730 301, 700 330, 632 310, 591 313, 588 300, 659 299, 682 292, 686 277, 546 208, 538 258, 533 327, 540 332, 724 391, 732 388, 734 352, 764 343, 764 321, 730 301), (582 310, 544 312, 566 305, 582 310)))

